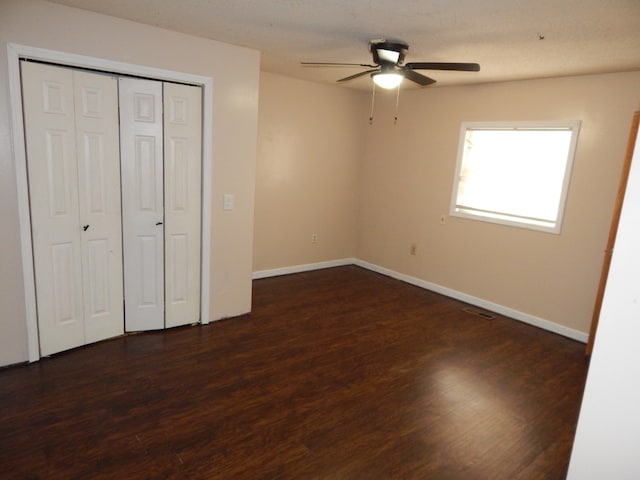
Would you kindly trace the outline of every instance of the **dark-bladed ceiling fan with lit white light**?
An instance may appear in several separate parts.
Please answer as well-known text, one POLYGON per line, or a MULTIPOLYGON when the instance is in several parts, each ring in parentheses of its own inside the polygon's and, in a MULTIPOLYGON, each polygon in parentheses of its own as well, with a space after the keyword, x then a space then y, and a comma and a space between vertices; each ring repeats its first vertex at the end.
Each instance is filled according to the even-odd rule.
POLYGON ((405 63, 404 57, 409 50, 409 45, 400 40, 371 40, 369 51, 373 56, 373 64, 369 63, 333 63, 333 62, 302 62, 304 66, 354 66, 369 67, 369 70, 356 73, 337 80, 338 83, 348 82, 364 75, 371 75, 374 83, 382 88, 395 88, 404 78, 424 87, 436 83, 433 78, 427 77, 416 70, 454 70, 460 72, 479 72, 477 63, 452 63, 452 62, 410 62, 405 63))

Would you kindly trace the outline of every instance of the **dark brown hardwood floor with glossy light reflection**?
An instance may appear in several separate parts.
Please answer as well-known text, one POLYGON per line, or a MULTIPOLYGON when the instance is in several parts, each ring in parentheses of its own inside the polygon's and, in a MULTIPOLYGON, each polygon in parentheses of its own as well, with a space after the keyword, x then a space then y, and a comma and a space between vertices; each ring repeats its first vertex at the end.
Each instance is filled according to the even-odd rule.
POLYGON ((584 345, 358 267, 0 371, 3 479, 563 479, 584 345))

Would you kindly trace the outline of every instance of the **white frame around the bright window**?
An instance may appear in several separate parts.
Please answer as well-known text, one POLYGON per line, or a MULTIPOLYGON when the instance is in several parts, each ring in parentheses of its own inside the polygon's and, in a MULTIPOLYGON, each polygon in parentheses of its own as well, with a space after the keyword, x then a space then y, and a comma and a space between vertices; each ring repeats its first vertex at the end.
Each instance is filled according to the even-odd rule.
POLYGON ((478 220, 483 222, 497 223, 513 227, 538 230, 548 233, 560 234, 564 217, 565 204, 569 191, 571 170, 578 143, 578 133, 580 131, 580 121, 538 121, 538 122, 463 122, 460 126, 460 139, 458 143, 458 158, 456 171, 453 179, 453 191, 451 194, 451 207, 449 214, 454 217, 478 220), (571 131, 571 141, 567 154, 567 161, 562 182, 562 191, 558 202, 558 210, 553 226, 546 226, 536 223, 534 220, 520 218, 510 214, 500 212, 473 211, 473 209, 462 208, 457 205, 458 187, 460 184, 460 173, 465 153, 466 133, 473 130, 569 130, 571 131))

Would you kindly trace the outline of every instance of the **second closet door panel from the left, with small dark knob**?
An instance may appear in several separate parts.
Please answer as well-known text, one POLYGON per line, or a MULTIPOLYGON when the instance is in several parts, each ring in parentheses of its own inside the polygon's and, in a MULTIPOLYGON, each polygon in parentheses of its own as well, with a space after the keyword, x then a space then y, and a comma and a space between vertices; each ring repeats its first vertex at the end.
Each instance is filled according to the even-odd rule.
POLYGON ((85 342, 124 333, 117 78, 75 71, 85 342))

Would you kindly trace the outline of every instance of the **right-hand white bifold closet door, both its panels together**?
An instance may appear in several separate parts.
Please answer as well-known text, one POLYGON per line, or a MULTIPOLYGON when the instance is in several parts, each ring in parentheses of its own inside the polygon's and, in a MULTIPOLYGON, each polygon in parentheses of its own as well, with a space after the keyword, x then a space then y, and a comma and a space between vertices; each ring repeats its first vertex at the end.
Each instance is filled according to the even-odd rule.
POLYGON ((200 318, 201 89, 120 79, 125 322, 200 318))

